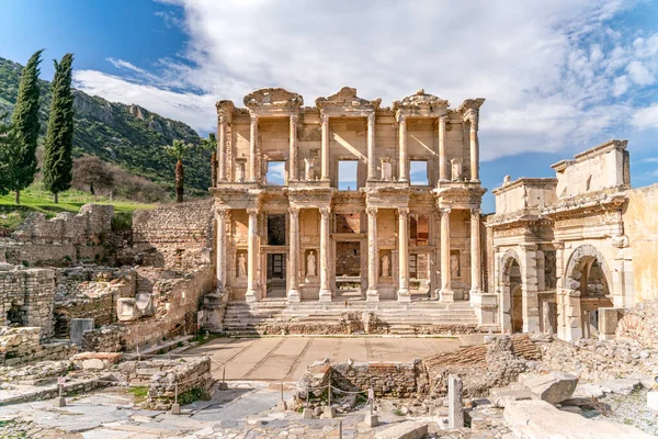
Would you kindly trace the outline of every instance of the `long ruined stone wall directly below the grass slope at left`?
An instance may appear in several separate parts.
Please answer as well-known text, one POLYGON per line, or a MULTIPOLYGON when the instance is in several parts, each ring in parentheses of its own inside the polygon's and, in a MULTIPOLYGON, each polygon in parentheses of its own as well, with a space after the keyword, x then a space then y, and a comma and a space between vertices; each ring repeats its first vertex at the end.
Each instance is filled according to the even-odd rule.
POLYGON ((42 213, 31 213, 11 235, 0 244, 0 252, 10 263, 69 264, 80 260, 102 260, 106 248, 102 245, 112 230, 114 206, 84 204, 76 215, 65 212, 53 219, 42 213))

